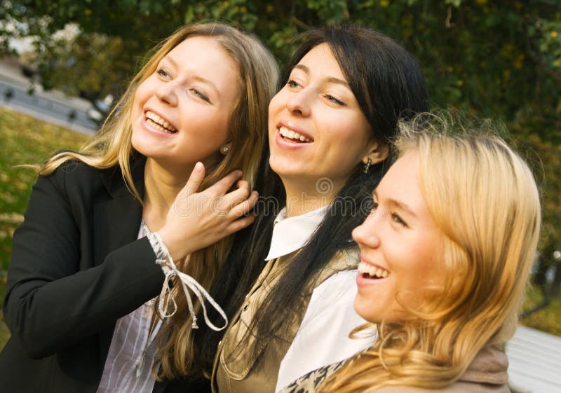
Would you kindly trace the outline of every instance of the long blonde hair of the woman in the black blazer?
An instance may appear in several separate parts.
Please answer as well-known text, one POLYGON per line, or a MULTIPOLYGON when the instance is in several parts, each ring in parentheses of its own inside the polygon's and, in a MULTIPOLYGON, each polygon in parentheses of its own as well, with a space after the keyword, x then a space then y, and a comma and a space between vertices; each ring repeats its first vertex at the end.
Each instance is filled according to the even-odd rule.
MULTIPOLYGON (((192 36, 210 36, 234 60, 238 66, 238 101, 231 110, 229 138, 231 148, 227 156, 206 168, 207 176, 202 189, 214 184, 234 169, 242 170, 243 178, 255 185, 257 168, 267 141, 267 113, 269 101, 276 92, 278 65, 273 55, 255 36, 219 22, 197 23, 178 29, 168 39, 152 50, 152 55, 130 82, 126 92, 111 111, 108 120, 79 153, 65 151, 56 154, 39 169, 39 174, 53 172, 68 160, 79 160, 92 167, 104 169, 119 165, 123 179, 130 191, 142 202, 142 195, 133 183, 130 157, 134 149, 131 144, 131 113, 135 91, 145 79, 156 71, 158 63, 170 50, 192 36)), ((178 268, 194 277, 208 289, 215 273, 227 258, 232 237, 196 251, 189 256, 189 263, 182 261, 178 268)), ((196 373, 191 317, 187 302, 180 294, 180 285, 175 285, 173 296, 178 311, 161 331, 161 368, 158 378, 176 378, 179 375, 196 373)), ((197 303, 195 312, 200 308, 197 303)))

